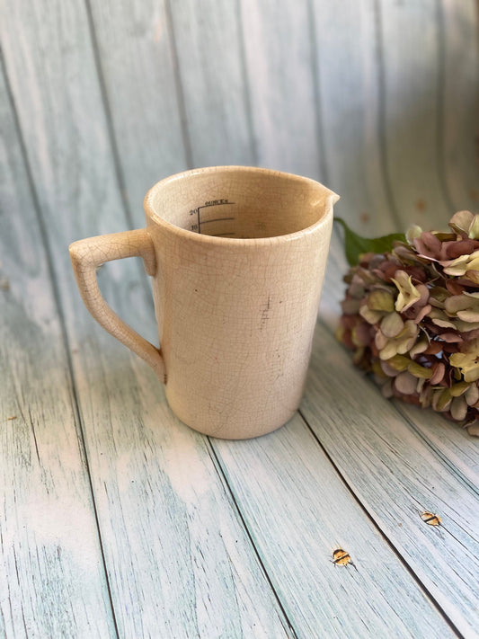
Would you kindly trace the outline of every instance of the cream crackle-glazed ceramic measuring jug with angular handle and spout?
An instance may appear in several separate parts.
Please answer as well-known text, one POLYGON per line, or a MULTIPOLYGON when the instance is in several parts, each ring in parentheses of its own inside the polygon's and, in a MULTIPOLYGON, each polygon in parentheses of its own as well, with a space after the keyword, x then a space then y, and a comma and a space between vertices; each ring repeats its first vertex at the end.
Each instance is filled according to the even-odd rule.
POLYGON ((146 228, 71 244, 84 304, 155 370, 195 430, 246 439, 279 428, 303 395, 338 196, 245 166, 173 175, 146 193, 146 228), (103 262, 140 256, 160 348, 106 304, 103 262))

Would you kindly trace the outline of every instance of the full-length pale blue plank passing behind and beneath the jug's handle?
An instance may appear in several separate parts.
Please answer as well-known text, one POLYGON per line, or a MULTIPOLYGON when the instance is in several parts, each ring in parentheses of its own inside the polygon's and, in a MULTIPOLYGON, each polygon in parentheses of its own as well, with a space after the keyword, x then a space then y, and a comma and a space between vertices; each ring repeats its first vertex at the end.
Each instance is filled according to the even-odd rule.
MULTIPOLYGON (((291 636, 205 440, 173 420, 153 372, 93 324, 75 290, 68 242, 127 221, 83 4, 49 4, 47 12, 37 2, 33 14, 49 15, 38 22, 15 13, 21 9, 10 7, 16 19, 14 36, 4 34, 5 54, 72 349, 119 633, 291 636), (62 49, 69 55, 60 60, 62 49), (73 88, 64 75, 75 76, 73 88)), ((103 270, 105 296, 143 334, 153 333, 151 300, 140 283, 145 276, 118 266, 103 270)))

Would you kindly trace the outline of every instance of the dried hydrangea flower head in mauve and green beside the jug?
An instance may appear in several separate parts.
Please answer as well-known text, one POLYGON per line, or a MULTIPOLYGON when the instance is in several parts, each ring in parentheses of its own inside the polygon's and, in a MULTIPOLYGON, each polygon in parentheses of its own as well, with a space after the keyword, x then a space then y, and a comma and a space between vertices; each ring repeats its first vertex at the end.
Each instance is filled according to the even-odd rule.
POLYGON ((479 215, 449 226, 412 226, 390 252, 361 255, 337 337, 384 395, 468 426, 479 419, 479 215))

